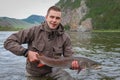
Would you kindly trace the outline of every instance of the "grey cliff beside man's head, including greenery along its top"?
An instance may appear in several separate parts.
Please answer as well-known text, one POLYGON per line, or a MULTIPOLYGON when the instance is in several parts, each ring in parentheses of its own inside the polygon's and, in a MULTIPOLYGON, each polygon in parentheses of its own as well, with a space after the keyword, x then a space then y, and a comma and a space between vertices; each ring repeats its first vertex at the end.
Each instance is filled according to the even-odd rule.
POLYGON ((62 24, 70 26, 71 30, 77 30, 79 28, 79 26, 81 25, 81 19, 88 12, 88 8, 85 4, 86 0, 79 0, 77 2, 76 1, 77 0, 69 0, 69 6, 67 6, 67 2, 68 2, 67 0, 63 0, 63 2, 59 2, 59 4, 57 4, 57 6, 59 6, 63 10, 62 24), (78 6, 74 7, 74 5, 72 4, 76 4, 76 3, 78 6), (61 4, 66 4, 66 5, 61 5, 61 4))

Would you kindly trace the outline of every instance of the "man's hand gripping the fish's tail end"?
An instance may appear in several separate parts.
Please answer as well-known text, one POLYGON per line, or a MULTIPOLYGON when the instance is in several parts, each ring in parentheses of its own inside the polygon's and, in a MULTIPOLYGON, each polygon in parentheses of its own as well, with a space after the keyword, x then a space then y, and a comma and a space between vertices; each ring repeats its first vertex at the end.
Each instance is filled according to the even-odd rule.
POLYGON ((37 61, 39 62, 37 55, 39 55, 37 52, 29 50, 27 58, 30 62, 37 62, 37 61))

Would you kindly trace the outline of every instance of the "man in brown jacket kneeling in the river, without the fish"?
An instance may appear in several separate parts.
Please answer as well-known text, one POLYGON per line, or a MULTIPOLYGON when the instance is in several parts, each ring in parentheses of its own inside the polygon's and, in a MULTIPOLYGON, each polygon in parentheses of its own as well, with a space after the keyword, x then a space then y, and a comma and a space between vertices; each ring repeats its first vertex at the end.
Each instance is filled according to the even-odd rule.
MULTIPOLYGON (((12 34, 4 43, 4 47, 12 53, 27 57, 26 75, 32 77, 50 76, 56 80, 74 80, 62 69, 49 66, 39 66, 38 54, 51 58, 72 56, 72 47, 69 36, 61 25, 61 10, 52 6, 48 9, 46 20, 39 26, 21 30, 12 34), (21 46, 27 43, 28 49, 21 46)), ((73 61, 72 69, 79 67, 77 61, 73 61)), ((30 79, 31 80, 31 79, 30 79)), ((35 79, 36 80, 36 79, 35 79)), ((39 79, 40 80, 40 79, 39 79)))

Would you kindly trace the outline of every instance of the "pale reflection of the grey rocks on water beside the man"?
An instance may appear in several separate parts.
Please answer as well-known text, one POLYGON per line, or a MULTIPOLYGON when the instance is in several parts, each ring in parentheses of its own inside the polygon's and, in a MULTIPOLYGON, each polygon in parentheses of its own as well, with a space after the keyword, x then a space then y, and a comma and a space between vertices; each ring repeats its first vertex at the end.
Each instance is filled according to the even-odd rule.
POLYGON ((89 48, 91 42, 90 32, 71 32, 69 33, 72 45, 75 47, 89 48))

